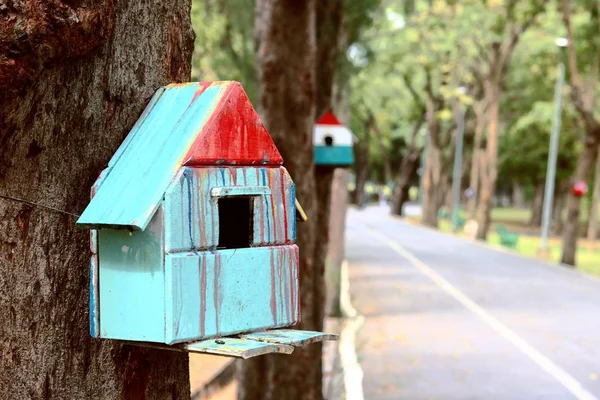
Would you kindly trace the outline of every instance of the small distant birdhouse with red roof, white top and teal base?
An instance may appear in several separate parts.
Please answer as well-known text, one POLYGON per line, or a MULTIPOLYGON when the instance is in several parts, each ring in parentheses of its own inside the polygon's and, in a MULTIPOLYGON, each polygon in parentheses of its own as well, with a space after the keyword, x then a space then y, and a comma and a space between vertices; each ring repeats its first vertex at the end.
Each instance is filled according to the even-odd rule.
POLYGON ((354 135, 331 111, 315 124, 314 162, 317 166, 348 167, 354 163, 354 135))

